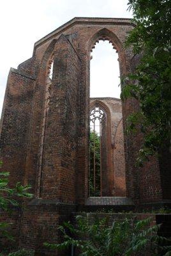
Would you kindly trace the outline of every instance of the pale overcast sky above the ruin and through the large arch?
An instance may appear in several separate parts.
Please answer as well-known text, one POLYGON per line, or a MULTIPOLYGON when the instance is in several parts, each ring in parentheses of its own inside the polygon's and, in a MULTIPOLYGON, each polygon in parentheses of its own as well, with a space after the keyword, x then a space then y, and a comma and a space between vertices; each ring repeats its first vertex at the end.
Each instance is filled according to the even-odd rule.
MULTIPOLYGON (((31 58, 34 42, 73 17, 131 18, 131 13, 126 11, 127 3, 128 0, 1 1, 0 113, 10 67, 17 68, 22 61, 31 58)), ((93 97, 118 97, 116 58, 115 51, 108 42, 101 42, 93 50, 93 60, 91 60, 91 94, 93 97), (115 56, 114 59, 112 56, 115 56), (101 74, 100 77, 99 74, 101 74), (98 89, 93 89, 94 84, 97 84, 98 89), (108 95, 102 92, 102 86, 106 88, 107 84, 115 84, 116 89, 113 94, 110 89, 108 89, 108 95), (102 95, 94 95, 93 90, 94 92, 101 90, 102 95)), ((108 87, 111 88, 111 86, 108 87)))

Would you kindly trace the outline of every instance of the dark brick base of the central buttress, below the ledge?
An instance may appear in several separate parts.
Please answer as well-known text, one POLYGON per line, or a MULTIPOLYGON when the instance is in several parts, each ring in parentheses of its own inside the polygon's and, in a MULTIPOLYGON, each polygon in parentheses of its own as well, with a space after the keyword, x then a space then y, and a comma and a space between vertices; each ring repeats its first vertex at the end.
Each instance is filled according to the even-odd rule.
POLYGON ((64 221, 70 220, 75 205, 60 204, 59 202, 35 201, 24 209, 20 228, 19 246, 32 248, 38 255, 57 255, 56 251, 49 250, 43 243, 57 243, 60 237, 57 227, 64 221))

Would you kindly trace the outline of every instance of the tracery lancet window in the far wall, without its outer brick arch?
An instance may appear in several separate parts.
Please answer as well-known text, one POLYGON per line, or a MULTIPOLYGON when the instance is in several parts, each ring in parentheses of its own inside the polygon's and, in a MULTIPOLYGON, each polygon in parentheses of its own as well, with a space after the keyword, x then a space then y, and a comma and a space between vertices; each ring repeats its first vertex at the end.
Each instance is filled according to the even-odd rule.
POLYGON ((99 106, 90 112, 89 195, 103 196, 106 114, 99 106))

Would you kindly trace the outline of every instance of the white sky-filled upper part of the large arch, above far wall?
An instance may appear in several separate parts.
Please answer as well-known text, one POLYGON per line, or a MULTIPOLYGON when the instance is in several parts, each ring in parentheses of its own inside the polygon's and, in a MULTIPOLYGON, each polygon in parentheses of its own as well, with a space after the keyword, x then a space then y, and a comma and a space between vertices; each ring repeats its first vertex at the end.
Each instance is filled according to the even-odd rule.
POLYGON ((90 97, 114 97, 121 94, 118 54, 108 41, 99 41, 91 53, 90 97))

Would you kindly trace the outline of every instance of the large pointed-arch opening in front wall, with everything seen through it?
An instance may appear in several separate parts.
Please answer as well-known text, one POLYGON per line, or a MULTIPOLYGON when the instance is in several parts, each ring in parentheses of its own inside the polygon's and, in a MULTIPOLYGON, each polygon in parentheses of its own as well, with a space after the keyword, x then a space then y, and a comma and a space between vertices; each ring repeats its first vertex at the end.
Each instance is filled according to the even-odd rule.
POLYGON ((118 54, 106 38, 99 40, 90 58, 89 196, 125 196, 118 54))

